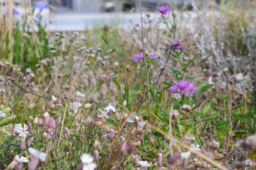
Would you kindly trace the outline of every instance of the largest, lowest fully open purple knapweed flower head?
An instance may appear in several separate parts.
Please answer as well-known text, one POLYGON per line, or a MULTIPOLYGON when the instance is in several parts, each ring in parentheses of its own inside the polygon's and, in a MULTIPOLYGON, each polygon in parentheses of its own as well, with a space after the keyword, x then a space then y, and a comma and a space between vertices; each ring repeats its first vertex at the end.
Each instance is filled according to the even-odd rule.
POLYGON ((181 80, 176 82, 175 85, 170 87, 170 92, 172 93, 180 93, 181 95, 185 94, 187 97, 189 94, 193 94, 193 92, 197 92, 197 87, 190 83, 188 80, 181 80))

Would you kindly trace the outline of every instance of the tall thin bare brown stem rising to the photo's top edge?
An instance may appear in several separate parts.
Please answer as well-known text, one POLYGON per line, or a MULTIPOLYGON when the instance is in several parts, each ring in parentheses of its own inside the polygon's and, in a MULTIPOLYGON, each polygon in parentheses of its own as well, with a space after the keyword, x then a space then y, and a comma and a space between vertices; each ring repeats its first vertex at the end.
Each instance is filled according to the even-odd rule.
MULTIPOLYGON (((141 12, 141 0, 140 0, 140 12, 141 12)), ((143 21, 142 21, 142 13, 141 13, 141 34, 142 34, 142 50, 143 50, 143 61, 144 61, 144 66, 145 66, 145 72, 146 72, 146 79, 147 79, 147 105, 148 105, 148 110, 150 111, 150 96, 149 96, 149 83, 148 83, 148 72, 147 72, 147 64, 146 64, 146 58, 144 54, 144 40, 143 40, 143 21)), ((148 122, 151 124, 151 118, 150 118, 150 113, 148 112, 148 122)), ((149 138, 151 138, 151 131, 149 133, 149 138)))

